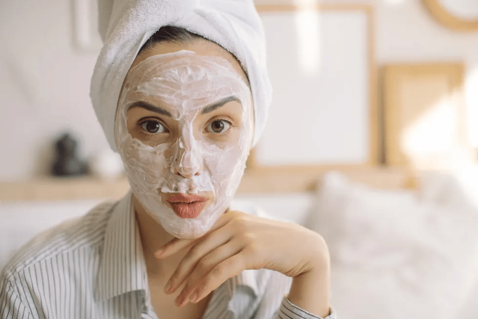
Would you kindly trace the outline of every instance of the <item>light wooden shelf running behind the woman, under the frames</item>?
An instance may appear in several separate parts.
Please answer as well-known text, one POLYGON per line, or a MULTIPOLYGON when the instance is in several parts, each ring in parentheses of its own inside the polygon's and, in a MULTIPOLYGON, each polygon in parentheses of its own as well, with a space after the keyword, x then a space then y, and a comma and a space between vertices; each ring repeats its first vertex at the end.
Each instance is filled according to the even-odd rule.
MULTIPOLYGON (((300 193, 313 191, 322 175, 338 170, 352 181, 380 189, 413 188, 412 175, 400 168, 357 166, 270 167, 246 170, 238 193, 300 193)), ((43 177, 18 182, 0 182, 0 202, 117 199, 129 190, 126 178, 43 177)))

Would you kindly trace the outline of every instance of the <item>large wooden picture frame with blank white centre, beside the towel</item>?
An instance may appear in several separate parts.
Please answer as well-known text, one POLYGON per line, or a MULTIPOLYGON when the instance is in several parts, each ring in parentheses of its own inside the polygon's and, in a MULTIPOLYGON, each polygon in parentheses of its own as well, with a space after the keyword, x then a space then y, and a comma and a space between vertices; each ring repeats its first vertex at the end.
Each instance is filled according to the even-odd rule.
MULTIPOLYGON (((380 132, 378 131, 378 106, 377 106, 377 97, 378 97, 378 90, 377 90, 377 64, 375 61, 375 48, 374 48, 374 26, 373 26, 373 9, 370 5, 364 4, 320 4, 320 5, 307 5, 307 6, 299 6, 299 5, 257 5, 257 10, 259 15, 263 19, 264 29, 266 33, 266 42, 268 43, 267 52, 268 52, 268 67, 269 67, 269 76, 272 81, 273 85, 273 102, 269 112, 269 120, 268 120, 268 127, 266 127, 261 140, 259 141, 258 146, 253 149, 253 152, 250 156, 248 167, 254 169, 261 169, 267 167, 268 170, 276 168, 277 170, 296 167, 300 168, 303 167, 304 169, 311 169, 311 168, 322 168, 322 167, 333 167, 333 166, 376 166, 379 163, 379 139, 380 139, 380 132), (318 15, 318 17, 314 17, 314 15, 318 15), (276 19, 277 16, 277 19, 276 19), (297 16, 297 18, 296 18, 297 16), (310 43, 314 42, 314 35, 310 33, 306 35, 307 39, 303 39, 304 41, 300 42, 300 37, 302 37, 301 32, 297 30, 297 33, 293 35, 291 32, 287 33, 288 29, 295 28, 293 26, 292 20, 299 23, 302 23, 304 18, 312 18, 319 19, 318 21, 318 28, 322 29, 319 30, 320 34, 319 37, 323 38, 323 43, 319 43, 318 45, 322 45, 319 48, 322 52, 315 52, 313 47, 310 47, 310 43), (276 20, 274 20, 276 19, 276 20), (352 23, 349 26, 349 23, 352 23), (355 23, 355 24, 354 24, 355 23), (287 25, 287 26, 285 26, 287 25), (341 28, 339 31, 336 32, 335 27, 338 26, 341 28), (357 35, 356 30, 354 30, 355 26, 359 29, 359 40, 356 40, 355 37, 357 35), (271 31, 272 30, 272 31, 271 31), (279 30, 278 33, 283 34, 284 36, 281 37, 281 40, 274 39, 275 32, 279 30), (355 33, 354 33, 355 32, 355 33), (348 34, 350 33, 350 34, 348 34), (346 39, 338 39, 342 36, 351 37, 348 41, 346 39), (281 41, 283 43, 281 43, 281 41), (287 44, 287 42, 290 42, 287 44), (279 43, 279 44, 278 44, 279 43), (285 44, 284 44, 285 43, 285 44), (314 55, 318 56, 319 59, 323 59, 323 61, 319 61, 318 63, 322 63, 319 67, 328 66, 328 64, 335 64, 332 68, 320 70, 319 76, 311 76, 308 78, 309 75, 297 74, 295 70, 301 67, 300 60, 303 60, 303 57, 300 56, 299 53, 292 52, 296 50, 296 47, 300 47, 300 43, 307 44, 309 48, 306 50, 306 54, 309 54, 309 57, 314 59, 314 55), (349 44, 351 43, 351 44, 349 44), (350 45, 350 47, 347 47, 350 45), (328 49, 329 46, 333 46, 338 52, 330 51, 328 49), (357 56, 350 56, 350 50, 357 49, 357 56), (280 59, 276 59, 276 53, 280 52, 279 56, 280 59), (312 53, 311 53, 312 52, 312 53), (319 57, 320 53, 322 53, 322 57, 319 57), (332 57, 333 54, 339 54, 342 58, 335 59, 332 57), (332 60, 327 60, 332 59, 332 60), (348 63, 350 59, 355 59, 354 63, 348 63), (283 64, 283 61, 288 61, 288 63, 283 64), (339 65, 340 61, 345 61, 344 65, 339 65), (347 64, 348 63, 348 64, 347 64), (289 65, 290 64, 290 65, 289 65), (346 67, 355 68, 354 70, 359 73, 358 77, 355 77, 353 80, 350 80, 350 76, 347 73, 348 70, 346 67), (278 81, 278 79, 282 76, 281 74, 277 73, 277 70, 285 69, 287 73, 287 77, 283 77, 284 80, 282 82, 278 81), (339 74, 335 74, 335 72, 339 70, 339 74), (328 83, 328 79, 334 81, 332 86, 328 83), (300 83, 296 84, 294 81, 298 80, 300 83), (309 81, 310 80, 310 81, 309 81), (307 82, 309 81, 309 82, 307 82), (314 82, 315 81, 315 82, 314 82), (347 114, 343 114, 343 118, 345 121, 348 121, 351 125, 346 127, 343 125, 340 128, 336 128, 337 131, 343 139, 347 140, 345 144, 348 145, 353 144, 353 139, 356 138, 358 141, 355 150, 351 150, 347 153, 346 148, 331 150, 330 153, 332 154, 328 158, 326 156, 321 156, 320 153, 315 154, 307 154, 307 147, 304 145, 302 148, 298 148, 297 145, 294 145, 292 140, 288 140, 288 145, 292 145, 292 152, 295 152, 297 155, 296 157, 290 156, 290 154, 280 154, 280 145, 278 143, 278 139, 274 140, 271 138, 272 135, 281 133, 278 127, 281 122, 280 116, 278 117, 277 110, 284 110, 286 106, 284 105, 285 100, 289 99, 289 96, 301 96, 304 94, 304 90, 301 90, 300 85, 309 85, 312 83, 316 83, 319 86, 324 86, 322 92, 317 94, 324 94, 326 95, 324 98, 318 97, 316 92, 319 91, 320 87, 317 87, 315 90, 312 86, 307 87, 305 94, 309 94, 309 96, 304 96, 301 100, 302 102, 311 103, 316 107, 316 111, 314 115, 307 115, 307 110, 305 108, 301 108, 300 105, 302 102, 299 103, 299 106, 294 106, 295 112, 298 114, 304 113, 305 117, 308 120, 316 120, 317 125, 325 124, 327 125, 327 117, 320 117, 318 115, 317 109, 320 108, 327 108, 327 107, 335 107, 335 106, 345 106, 347 101, 341 100, 339 102, 333 102, 332 104, 328 103, 334 99, 333 94, 328 94, 327 89, 332 88, 335 90, 334 93, 337 93, 340 87, 342 87, 342 83, 348 85, 351 83, 353 87, 349 87, 352 93, 356 94, 357 100, 361 105, 357 105, 356 109, 360 108, 359 117, 357 121, 351 118, 350 116, 347 117, 347 114), (296 85, 295 87, 287 87, 287 84, 291 83, 296 85), (335 85, 335 86, 334 86, 335 85), (355 86, 354 86, 355 85, 355 86), (289 90, 287 94, 286 90, 289 90), (296 92, 297 91, 297 92, 296 92), (324 92, 325 91, 325 92, 324 92), (328 100, 327 100, 328 99, 328 100), (344 102, 345 101, 345 102, 344 102), (335 104, 334 104, 335 103, 335 104), (341 131, 340 131, 341 129, 341 131), (355 135, 354 135, 355 134, 355 135), (276 144, 275 149, 271 148, 270 145, 276 144), (333 153, 335 151, 335 153, 333 153), (341 153, 340 153, 341 152, 341 153), (354 153, 355 152, 355 153, 354 153), (287 156, 286 156, 287 155, 287 156), (347 158, 348 156, 348 158, 347 158), (290 157, 290 158, 288 158, 290 157), (305 161, 302 160, 305 158, 305 161), (276 159, 279 159, 276 161, 276 159), (282 162, 280 162, 282 161, 282 162), (287 162, 288 161, 288 162, 287 162)), ((312 23, 315 23, 312 21, 312 23)), ((303 23, 302 23, 303 24, 303 23)), ((312 24, 313 26, 313 24, 312 24)), ((306 26, 307 28, 307 26, 306 26)), ((305 29, 307 31, 307 29, 305 29)), ((321 41, 319 39, 318 41, 321 41)), ((354 52, 354 51, 352 51, 354 52)), ((307 62, 307 61, 306 61, 307 62)), ((314 63, 314 61, 312 61, 314 63)), ((317 63, 316 63, 317 64, 317 63)), ((310 67, 311 64, 306 65, 306 67, 310 67)), ((312 65, 314 66, 314 65, 312 65)), ((316 65, 317 66, 317 65, 316 65)), ((318 72, 319 73, 319 72, 318 72)), ((317 74, 317 73, 316 73, 317 74)), ((297 82, 297 81, 296 81, 297 82)), ((352 94, 350 93, 350 94, 352 94)), ((336 96, 341 94, 336 94, 336 96)), ((350 100, 350 99, 349 99, 350 100)), ((294 101, 289 101, 290 105, 294 101)), ((353 103, 353 99, 352 99, 353 103)), ((331 110, 329 114, 333 117, 332 121, 340 121, 341 119, 341 111, 354 111, 354 105, 351 107, 344 107, 343 110, 331 110)), ((322 112, 323 113, 323 112, 322 112)), ((326 112, 325 112, 326 113, 326 112)), ((282 118, 285 120, 285 118, 282 118)), ((334 123, 336 123, 334 122, 334 123)), ((314 122, 310 122, 314 123, 314 122)), ((336 123, 339 124, 339 123, 336 123)), ((312 125, 312 124, 311 124, 312 125)), ((322 129, 324 132, 329 128, 322 129)), ((331 129, 334 131, 334 128, 331 129)), ((310 133, 310 131, 309 131, 310 133)), ((308 134, 306 132, 306 134, 308 134)), ((315 144, 315 148, 320 148, 322 145, 326 144, 324 142, 324 135, 319 135, 319 138, 322 138, 321 141, 315 144), (322 143, 322 144, 320 144, 322 143)), ((287 138, 281 135, 280 141, 286 141, 287 138)), ((300 141, 299 141, 300 142, 300 141)), ((334 143, 332 141, 331 143, 334 143)), ((303 144, 303 143, 302 143, 303 144)), ((330 145, 330 144, 329 144, 330 145)), ((329 150, 325 150, 326 152, 329 150)))

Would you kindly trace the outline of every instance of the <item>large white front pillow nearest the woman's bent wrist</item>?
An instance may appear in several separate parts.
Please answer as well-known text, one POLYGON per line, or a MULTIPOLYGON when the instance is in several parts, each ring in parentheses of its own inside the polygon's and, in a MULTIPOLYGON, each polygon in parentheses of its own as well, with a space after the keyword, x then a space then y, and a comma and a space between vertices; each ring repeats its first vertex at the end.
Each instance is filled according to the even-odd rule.
MULTIPOLYGON (((466 207, 466 209, 465 209, 466 207)), ((456 318, 478 269, 478 213, 324 176, 308 227, 332 263, 341 319, 456 318)))

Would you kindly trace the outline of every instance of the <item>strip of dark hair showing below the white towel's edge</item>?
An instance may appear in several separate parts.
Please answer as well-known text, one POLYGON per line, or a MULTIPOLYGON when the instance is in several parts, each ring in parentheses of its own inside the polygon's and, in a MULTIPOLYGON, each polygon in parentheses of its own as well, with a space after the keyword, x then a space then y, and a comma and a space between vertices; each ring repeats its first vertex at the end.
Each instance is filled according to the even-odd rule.
POLYGON ((152 48, 153 46, 161 42, 188 44, 199 39, 207 40, 206 38, 201 37, 198 34, 189 32, 186 29, 172 25, 165 25, 160 27, 159 30, 156 31, 151 36, 151 38, 149 38, 148 41, 143 44, 143 46, 141 46, 138 54, 140 54, 142 51, 152 48))

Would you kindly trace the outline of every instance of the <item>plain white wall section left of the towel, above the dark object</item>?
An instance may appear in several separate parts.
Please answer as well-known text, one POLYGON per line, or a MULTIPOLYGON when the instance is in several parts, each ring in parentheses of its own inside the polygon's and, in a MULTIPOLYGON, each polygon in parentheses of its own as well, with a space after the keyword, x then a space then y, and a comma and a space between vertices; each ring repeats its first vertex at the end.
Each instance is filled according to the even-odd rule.
POLYGON ((38 172, 63 129, 83 155, 107 145, 89 98, 97 52, 75 49, 70 2, 0 1, 0 180, 38 172))

